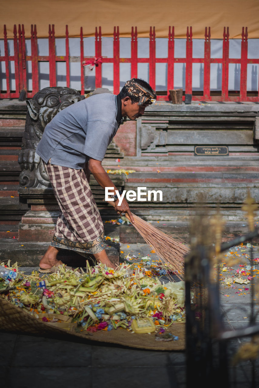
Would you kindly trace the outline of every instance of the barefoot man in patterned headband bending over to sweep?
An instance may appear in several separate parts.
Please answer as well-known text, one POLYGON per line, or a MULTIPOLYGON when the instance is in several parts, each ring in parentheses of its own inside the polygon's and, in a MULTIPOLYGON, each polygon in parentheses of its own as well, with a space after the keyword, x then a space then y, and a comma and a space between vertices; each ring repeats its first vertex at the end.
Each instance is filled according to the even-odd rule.
POLYGON ((55 272, 62 264, 60 249, 70 249, 98 263, 115 268, 104 249, 104 225, 89 187, 90 173, 98 184, 114 188, 115 210, 133 217, 123 199, 119 206, 117 190, 102 167, 102 160, 123 117, 136 120, 155 102, 150 85, 138 78, 127 81, 118 95, 96 94, 60 111, 48 123, 36 153, 43 160, 52 184, 60 214, 53 240, 40 260, 40 272, 55 272))

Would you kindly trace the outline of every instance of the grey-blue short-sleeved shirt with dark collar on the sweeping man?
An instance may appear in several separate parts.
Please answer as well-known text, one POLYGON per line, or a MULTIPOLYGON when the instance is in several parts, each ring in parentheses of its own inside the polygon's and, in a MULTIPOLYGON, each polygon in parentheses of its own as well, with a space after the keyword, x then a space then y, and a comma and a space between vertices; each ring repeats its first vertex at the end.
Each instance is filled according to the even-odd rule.
POLYGON ((54 165, 77 170, 85 167, 89 156, 102 161, 120 124, 118 97, 96 94, 57 113, 46 125, 36 153, 45 163, 51 158, 54 165))

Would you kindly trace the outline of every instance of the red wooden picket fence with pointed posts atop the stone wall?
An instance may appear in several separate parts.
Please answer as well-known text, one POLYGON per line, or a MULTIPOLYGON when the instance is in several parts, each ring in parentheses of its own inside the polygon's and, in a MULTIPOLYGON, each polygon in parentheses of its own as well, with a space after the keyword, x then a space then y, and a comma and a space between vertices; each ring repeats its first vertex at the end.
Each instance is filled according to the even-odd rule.
MULTIPOLYGON (((4 54, 0 56, 0 61, 5 62, 6 69, 6 90, 0 90, 0 99, 3 98, 18 98, 20 92, 25 90, 28 98, 32 97, 39 90, 39 62, 49 62, 50 68, 50 86, 56 85, 56 62, 66 62, 66 83, 67 87, 70 86, 70 70, 69 70, 69 34, 66 26, 66 55, 57 56, 55 53, 55 31, 54 25, 49 25, 49 55, 39 56, 38 55, 38 43, 37 43, 37 31, 36 25, 31 25, 31 55, 26 55, 25 50, 25 35, 24 25, 19 24, 18 36, 16 25, 14 26, 14 55, 8 53, 8 42, 7 42, 7 31, 4 26, 3 40, 4 40, 4 54), (10 90, 10 61, 14 61, 15 67, 15 81, 16 90, 10 90), (27 75, 26 75, 26 62, 31 61, 32 63, 32 90, 27 90, 27 75)), ((138 34, 137 28, 132 27, 131 30, 131 57, 120 58, 119 56, 119 27, 114 27, 114 42, 113 42, 113 57, 102 58, 104 63, 113 63, 113 85, 114 94, 119 93, 119 64, 130 63, 131 64, 131 77, 137 77, 137 66, 138 63, 149 64, 149 83, 152 88, 155 88, 155 64, 156 63, 167 63, 167 95, 159 95, 159 100, 168 100, 169 90, 174 88, 174 64, 185 63, 185 94, 193 94, 192 92, 192 64, 193 63, 204 63, 204 90, 203 95, 193 95, 193 100, 217 100, 217 101, 259 101, 259 94, 255 92, 254 95, 247 95, 247 64, 259 64, 259 59, 248 59, 247 58, 247 28, 242 29, 242 42, 241 42, 241 58, 230 59, 229 58, 229 29, 224 27, 223 32, 223 56, 222 58, 211 58, 211 32, 210 27, 205 28, 205 41, 204 41, 204 58, 193 58, 192 55, 192 27, 187 27, 186 34, 186 57, 175 58, 174 57, 174 27, 169 27, 168 34, 168 55, 167 58, 156 58, 155 57, 155 28, 150 27, 150 40, 149 40, 149 57, 138 58, 138 34), (211 63, 222 64, 222 88, 221 95, 211 95, 210 91, 210 66, 211 63), (240 64, 240 93, 236 92, 234 95, 229 95, 228 91, 228 71, 229 64, 236 63, 240 64)), ((102 57, 102 33, 101 27, 95 29, 95 57, 102 57)), ((80 62, 81 62, 81 94, 85 93, 84 90, 84 68, 83 61, 91 59, 84 56, 83 50, 83 28, 80 30, 80 62)), ((95 58, 92 58, 94 61, 95 58)), ((102 66, 101 64, 95 69, 95 87, 102 87, 102 66)), ((183 99, 185 97, 183 96, 183 99)))

